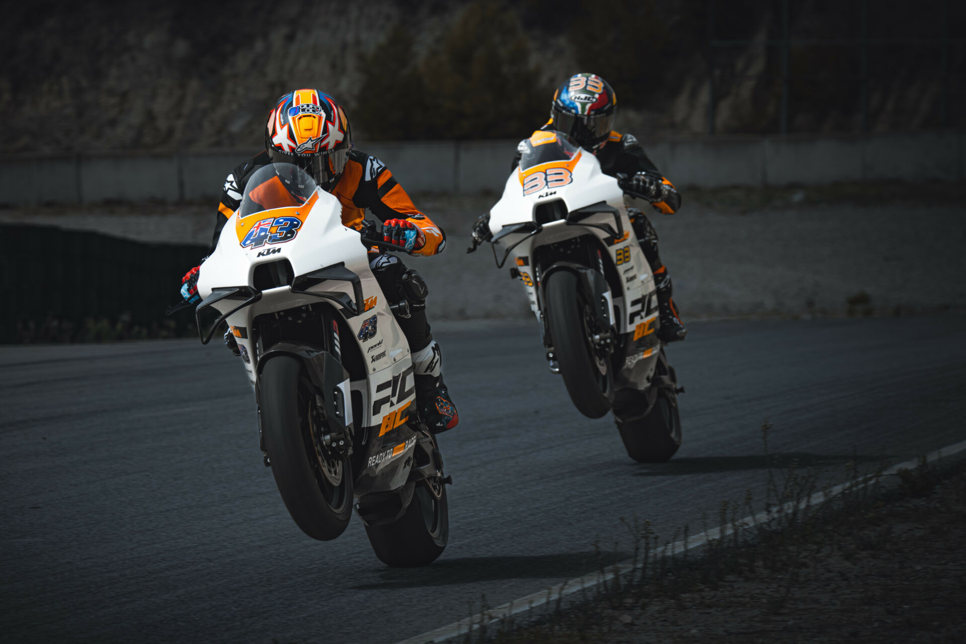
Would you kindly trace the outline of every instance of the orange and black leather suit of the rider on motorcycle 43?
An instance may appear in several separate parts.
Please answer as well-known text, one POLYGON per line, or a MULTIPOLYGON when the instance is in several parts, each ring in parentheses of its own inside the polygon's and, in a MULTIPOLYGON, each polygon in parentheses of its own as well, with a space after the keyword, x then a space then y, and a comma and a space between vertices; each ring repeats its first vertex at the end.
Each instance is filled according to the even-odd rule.
MULTIPOLYGON (((225 222, 241 206, 248 179, 271 159, 266 152, 241 163, 228 175, 221 194, 221 203, 215 215, 214 236, 211 252, 218 243, 225 222)), ((345 170, 338 182, 328 190, 342 204, 342 223, 344 226, 359 230, 365 217, 365 210, 371 211, 380 221, 404 219, 417 226, 425 237, 425 243, 412 251, 413 255, 437 255, 446 245, 446 236, 425 214, 416 210, 412 199, 396 182, 385 164, 375 156, 353 150, 349 153, 345 170)), ((379 281, 383 293, 390 302, 401 301, 406 294, 400 291, 403 275, 410 271, 395 255, 371 251, 369 266, 379 281)), ((411 307, 409 318, 397 318, 403 333, 410 343, 410 350, 425 349, 433 340, 426 311, 423 306, 411 307)))

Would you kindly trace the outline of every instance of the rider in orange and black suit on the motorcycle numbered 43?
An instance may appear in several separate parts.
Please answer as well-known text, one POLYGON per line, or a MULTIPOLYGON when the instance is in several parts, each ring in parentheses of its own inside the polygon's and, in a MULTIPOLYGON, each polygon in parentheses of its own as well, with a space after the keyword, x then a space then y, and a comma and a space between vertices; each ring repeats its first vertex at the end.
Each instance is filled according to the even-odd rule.
MULTIPOLYGON (((422 256, 437 255, 446 245, 442 229, 412 205, 385 164, 353 149, 349 119, 335 99, 317 90, 301 89, 275 101, 266 126, 265 151, 241 163, 225 180, 211 252, 228 218, 241 206, 248 179, 270 163, 297 165, 311 175, 342 204, 342 224, 364 237, 382 237, 386 243, 422 256), (381 230, 364 220, 366 209, 380 219, 381 230)), ((284 177, 277 179, 279 185, 272 189, 284 187, 284 177)), ((390 302, 410 302, 410 317, 397 316, 396 321, 412 351, 416 406, 423 420, 437 434, 456 427, 459 415, 442 381, 442 353, 426 320, 428 290, 422 277, 395 255, 375 249, 369 251, 369 266, 390 302)), ((199 268, 189 270, 182 280, 182 294, 189 301, 198 297, 199 268)), ((225 335, 225 344, 238 355, 230 333, 225 335)))

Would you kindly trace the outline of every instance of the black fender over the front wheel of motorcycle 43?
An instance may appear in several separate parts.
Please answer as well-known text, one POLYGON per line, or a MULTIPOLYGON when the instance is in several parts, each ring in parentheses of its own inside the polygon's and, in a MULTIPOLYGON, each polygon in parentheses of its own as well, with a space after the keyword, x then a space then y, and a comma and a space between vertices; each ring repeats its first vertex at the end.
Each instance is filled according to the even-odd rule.
MULTIPOLYGON (((326 402, 326 416, 329 422, 333 423, 338 429, 346 430, 353 435, 355 427, 353 425, 353 406, 352 397, 349 389, 349 372, 346 371, 342 363, 335 356, 326 350, 317 347, 298 344, 294 342, 279 342, 258 357, 258 364, 255 367, 255 397, 259 396, 259 383, 262 378, 262 370, 272 358, 279 355, 289 355, 302 363, 305 373, 316 386, 319 394, 326 402)), ((334 429, 334 428, 333 428, 334 429)))

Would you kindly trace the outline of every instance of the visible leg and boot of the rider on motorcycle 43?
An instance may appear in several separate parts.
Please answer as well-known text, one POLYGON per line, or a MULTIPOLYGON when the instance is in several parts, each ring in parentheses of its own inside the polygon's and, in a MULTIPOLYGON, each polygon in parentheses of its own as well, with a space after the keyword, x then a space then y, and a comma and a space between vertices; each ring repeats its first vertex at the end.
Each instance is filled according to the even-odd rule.
POLYGON ((410 303, 410 317, 396 315, 412 353, 416 384, 416 407, 435 434, 456 427, 460 417, 442 381, 442 351, 433 340, 426 320, 426 289, 418 273, 409 270, 395 255, 372 254, 369 267, 389 303, 410 303), (415 275, 415 278, 412 275, 415 275))

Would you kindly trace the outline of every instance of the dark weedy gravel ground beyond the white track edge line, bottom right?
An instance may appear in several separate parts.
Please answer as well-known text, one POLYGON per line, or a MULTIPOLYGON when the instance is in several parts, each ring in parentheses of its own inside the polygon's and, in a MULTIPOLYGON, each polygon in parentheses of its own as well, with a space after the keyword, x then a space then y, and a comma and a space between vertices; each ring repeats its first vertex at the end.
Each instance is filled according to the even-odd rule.
POLYGON ((522 629, 504 641, 966 641, 966 467, 935 488, 929 475, 914 475, 913 486, 889 503, 869 502, 858 516, 834 518, 803 536, 790 568, 768 570, 767 551, 759 550, 752 567, 716 588, 666 587, 657 595, 625 588, 558 618, 555 627, 522 629))

